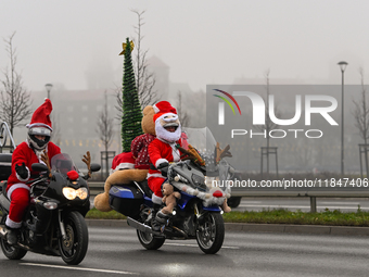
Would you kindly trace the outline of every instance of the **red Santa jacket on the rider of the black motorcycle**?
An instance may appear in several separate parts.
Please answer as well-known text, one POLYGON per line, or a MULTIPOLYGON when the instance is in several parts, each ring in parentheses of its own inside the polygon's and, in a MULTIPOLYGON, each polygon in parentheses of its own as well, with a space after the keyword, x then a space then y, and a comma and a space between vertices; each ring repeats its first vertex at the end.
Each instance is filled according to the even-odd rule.
MULTIPOLYGON (((61 153, 60 148, 51 141, 48 143, 46 149, 50 161, 51 158, 61 153)), ((27 142, 24 141, 18 144, 12 154, 12 174, 8 178, 7 191, 12 185, 17 182, 26 182, 29 179, 30 175, 37 175, 38 173, 33 172, 30 166, 34 163, 40 162, 41 161, 38 159, 35 151, 28 146, 27 142), (15 165, 22 165, 23 163, 25 163, 26 167, 28 168, 28 178, 26 179, 18 178, 20 176, 15 172, 15 165)))

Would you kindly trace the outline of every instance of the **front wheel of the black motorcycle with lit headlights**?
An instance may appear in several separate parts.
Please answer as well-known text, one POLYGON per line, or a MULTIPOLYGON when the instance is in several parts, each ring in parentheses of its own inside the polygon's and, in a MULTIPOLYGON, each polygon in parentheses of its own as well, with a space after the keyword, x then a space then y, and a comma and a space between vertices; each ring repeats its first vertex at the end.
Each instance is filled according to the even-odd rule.
POLYGON ((79 264, 88 248, 88 229, 84 216, 71 212, 64 218, 65 238, 59 238, 59 250, 63 261, 69 265, 79 264))

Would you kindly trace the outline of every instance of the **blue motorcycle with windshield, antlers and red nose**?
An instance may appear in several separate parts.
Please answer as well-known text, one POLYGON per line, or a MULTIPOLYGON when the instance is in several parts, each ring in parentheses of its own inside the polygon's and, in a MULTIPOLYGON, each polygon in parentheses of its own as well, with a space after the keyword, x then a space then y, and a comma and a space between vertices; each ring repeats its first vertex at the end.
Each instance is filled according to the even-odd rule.
MULTIPOLYGON (((207 128, 202 129, 201 134, 204 134, 203 138, 214 140, 207 128)), ((199 142, 199 136, 194 141, 199 142)), ((200 147, 203 148, 205 143, 200 147)), ((229 193, 229 188, 222 190, 211 187, 206 179, 209 176, 219 177, 219 173, 229 175, 231 166, 226 161, 214 165, 207 163, 206 166, 201 166, 191 160, 169 165, 167 181, 181 197, 161 231, 154 231, 151 227, 152 191, 147 181, 112 186, 110 205, 128 217, 128 225, 137 229, 140 243, 148 250, 160 249, 166 239, 196 239, 204 253, 215 254, 220 250, 225 238, 225 224, 219 205, 229 193)))

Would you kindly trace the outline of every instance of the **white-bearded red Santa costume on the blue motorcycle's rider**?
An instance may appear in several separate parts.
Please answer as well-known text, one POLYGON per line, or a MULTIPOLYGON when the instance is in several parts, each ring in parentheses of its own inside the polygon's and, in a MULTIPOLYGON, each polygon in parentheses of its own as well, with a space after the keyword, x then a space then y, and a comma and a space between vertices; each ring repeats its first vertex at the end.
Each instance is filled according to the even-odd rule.
POLYGON ((181 126, 177 111, 167 101, 161 101, 160 105, 154 105, 155 133, 156 138, 149 146, 149 156, 151 166, 148 174, 148 185, 153 191, 152 201, 154 204, 162 204, 162 185, 166 179, 163 175, 163 167, 167 167, 170 162, 178 162, 181 153, 176 148, 181 146, 181 126), (170 130, 168 130, 170 129, 170 130))

